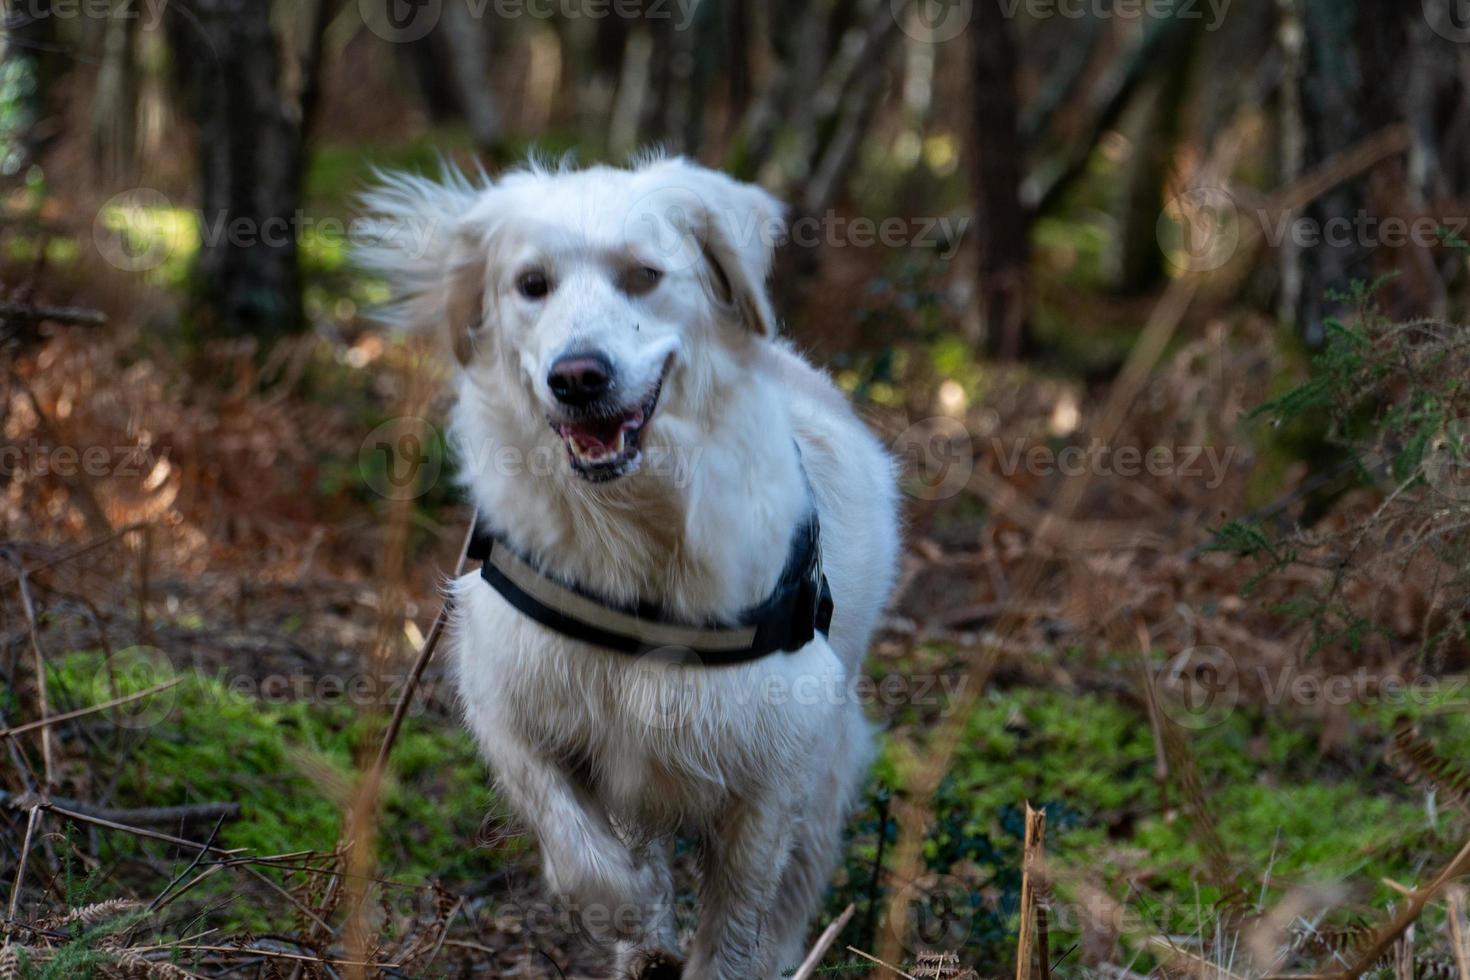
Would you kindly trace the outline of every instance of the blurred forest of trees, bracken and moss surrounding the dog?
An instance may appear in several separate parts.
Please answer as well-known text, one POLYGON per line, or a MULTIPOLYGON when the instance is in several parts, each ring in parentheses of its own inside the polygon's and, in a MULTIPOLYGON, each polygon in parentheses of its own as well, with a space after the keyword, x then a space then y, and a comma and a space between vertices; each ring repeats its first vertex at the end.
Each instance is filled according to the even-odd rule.
POLYGON ((0 9, 0 977, 604 976, 354 201, 660 145, 903 464, 823 970, 1470 980, 1461 0, 0 9))

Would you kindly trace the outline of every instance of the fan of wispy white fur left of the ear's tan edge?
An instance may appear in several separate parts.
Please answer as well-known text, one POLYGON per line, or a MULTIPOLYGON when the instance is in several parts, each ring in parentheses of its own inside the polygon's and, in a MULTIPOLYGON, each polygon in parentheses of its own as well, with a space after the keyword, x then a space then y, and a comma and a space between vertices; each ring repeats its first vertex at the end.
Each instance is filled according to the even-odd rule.
POLYGON ((353 237, 353 263, 388 284, 370 316, 398 329, 426 331, 451 319, 454 278, 467 262, 465 219, 491 187, 484 170, 466 175, 444 162, 440 179, 375 170, 359 201, 366 216, 353 237))

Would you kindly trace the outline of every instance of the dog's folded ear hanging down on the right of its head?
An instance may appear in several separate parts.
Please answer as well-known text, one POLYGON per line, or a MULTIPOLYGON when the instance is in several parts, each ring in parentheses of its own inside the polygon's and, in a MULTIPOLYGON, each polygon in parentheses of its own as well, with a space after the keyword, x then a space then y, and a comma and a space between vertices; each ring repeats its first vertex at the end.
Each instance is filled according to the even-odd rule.
POLYGON ((670 219, 692 222, 686 231, 710 266, 716 295, 753 331, 775 336, 776 311, 766 279, 784 234, 785 206, 764 188, 684 159, 651 163, 644 173, 664 184, 670 219))

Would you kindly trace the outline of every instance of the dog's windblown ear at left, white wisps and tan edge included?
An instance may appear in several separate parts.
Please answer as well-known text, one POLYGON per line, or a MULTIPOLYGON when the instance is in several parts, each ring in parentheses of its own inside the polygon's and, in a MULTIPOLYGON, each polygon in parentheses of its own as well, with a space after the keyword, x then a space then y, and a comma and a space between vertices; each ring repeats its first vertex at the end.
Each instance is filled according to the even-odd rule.
POLYGON ((369 219, 354 248, 357 266, 388 281, 391 298, 376 310, 390 326, 441 332, 460 364, 473 354, 485 320, 487 247, 467 217, 488 181, 470 184, 445 167, 441 181, 379 173, 362 195, 369 219))

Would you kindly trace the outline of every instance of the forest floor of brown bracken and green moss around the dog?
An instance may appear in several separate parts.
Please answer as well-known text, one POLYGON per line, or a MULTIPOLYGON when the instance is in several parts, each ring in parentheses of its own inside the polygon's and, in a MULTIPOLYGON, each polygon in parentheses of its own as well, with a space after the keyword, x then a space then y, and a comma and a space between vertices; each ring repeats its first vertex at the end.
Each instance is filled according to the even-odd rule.
MULTIPOLYGON (((373 861, 341 864, 365 763, 469 513, 422 361, 357 323, 375 288, 340 248, 307 257, 316 332, 266 356, 181 354, 154 328, 166 303, 150 311, 109 284, 71 298, 113 323, 47 328, 10 351, 4 439, 21 454, 3 498, 0 729, 43 704, 76 713, 4 739, 0 867, 16 874, 0 901, 15 948, 35 976, 131 961, 291 976, 303 956, 350 958, 344 902, 360 899, 375 936, 356 948, 385 974, 606 976, 541 896, 534 846, 492 799, 442 660, 375 795, 373 861), (407 500, 378 451, 403 416, 431 420, 416 430, 428 475, 407 500), (104 464, 66 464, 66 450, 98 447, 104 464), (44 785, 53 807, 29 810, 44 785)), ((150 288, 166 292, 179 262, 150 288)), ((903 276, 826 275, 867 278, 858 322, 907 322, 903 276)), ((828 918, 856 907, 833 971, 870 968, 844 948, 883 946, 894 893, 914 899, 897 942, 910 967, 948 949, 982 976, 1013 971, 1028 804, 1047 810, 1057 976, 1201 958, 1217 976, 1261 976, 1245 965, 1258 948, 1289 948, 1280 970, 1341 968, 1354 937, 1464 845, 1466 786, 1436 790, 1402 760, 1416 745, 1470 758, 1470 689, 1455 685, 1467 666, 1416 658, 1421 583, 1348 597, 1385 626, 1311 649, 1289 607, 1329 573, 1257 580, 1258 566, 1213 547, 1230 519, 1319 507, 1319 473, 1289 433, 1245 420, 1302 364, 1269 353, 1273 329, 1248 316, 1182 334, 1111 413, 1114 389, 982 363, 948 332, 879 350, 798 329, 892 447, 907 494, 901 586, 867 663, 883 751, 829 901, 828 918), (900 867, 914 807, 923 846, 900 867)), ((1348 486, 1322 522, 1345 526, 1379 500, 1348 486)), ((1420 920, 1410 942, 1426 970, 1454 968, 1454 921, 1438 905, 1420 920)))

